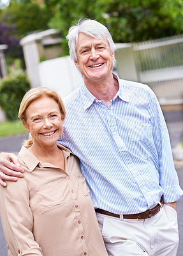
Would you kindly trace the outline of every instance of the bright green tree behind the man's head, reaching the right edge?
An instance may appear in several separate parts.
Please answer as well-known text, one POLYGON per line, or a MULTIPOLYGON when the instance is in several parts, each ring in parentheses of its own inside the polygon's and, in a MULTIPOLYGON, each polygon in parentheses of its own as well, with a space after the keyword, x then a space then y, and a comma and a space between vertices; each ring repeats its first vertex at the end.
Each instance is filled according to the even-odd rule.
POLYGON ((78 19, 105 24, 115 42, 137 42, 183 33, 182 0, 45 0, 54 6, 49 25, 66 36, 78 19))

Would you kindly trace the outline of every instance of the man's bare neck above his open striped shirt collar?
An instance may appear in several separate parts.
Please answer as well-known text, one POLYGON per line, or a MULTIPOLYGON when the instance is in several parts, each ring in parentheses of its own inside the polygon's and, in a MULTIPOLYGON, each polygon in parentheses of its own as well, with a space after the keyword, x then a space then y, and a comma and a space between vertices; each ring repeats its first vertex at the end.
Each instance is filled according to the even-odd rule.
POLYGON ((107 107, 108 102, 115 97, 119 90, 119 83, 113 76, 110 76, 107 79, 91 81, 91 83, 84 79, 84 83, 89 92, 91 92, 96 99, 103 100, 107 107))

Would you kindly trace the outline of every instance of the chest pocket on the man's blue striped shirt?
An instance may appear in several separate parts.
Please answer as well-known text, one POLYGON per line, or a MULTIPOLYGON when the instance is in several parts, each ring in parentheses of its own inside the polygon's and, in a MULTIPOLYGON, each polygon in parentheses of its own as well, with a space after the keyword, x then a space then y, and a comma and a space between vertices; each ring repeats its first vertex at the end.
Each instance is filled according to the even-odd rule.
POLYGON ((152 126, 150 124, 143 124, 140 128, 136 124, 136 127, 128 130, 128 134, 131 153, 142 159, 147 159, 152 149, 154 149, 152 126))

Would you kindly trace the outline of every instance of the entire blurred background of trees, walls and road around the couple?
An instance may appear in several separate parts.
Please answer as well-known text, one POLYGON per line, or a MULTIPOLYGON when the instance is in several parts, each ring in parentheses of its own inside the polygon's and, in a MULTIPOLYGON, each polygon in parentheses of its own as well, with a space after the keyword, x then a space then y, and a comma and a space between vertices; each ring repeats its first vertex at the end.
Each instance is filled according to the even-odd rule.
MULTIPOLYGON (((0 152, 18 152, 27 136, 18 108, 29 88, 47 86, 63 98, 80 86, 66 35, 85 18, 110 31, 117 45, 113 71, 156 93, 183 186, 182 0, 0 0, 0 152)), ((182 199, 177 256, 183 256, 182 199)), ((0 255, 6 255, 1 225, 0 255)))

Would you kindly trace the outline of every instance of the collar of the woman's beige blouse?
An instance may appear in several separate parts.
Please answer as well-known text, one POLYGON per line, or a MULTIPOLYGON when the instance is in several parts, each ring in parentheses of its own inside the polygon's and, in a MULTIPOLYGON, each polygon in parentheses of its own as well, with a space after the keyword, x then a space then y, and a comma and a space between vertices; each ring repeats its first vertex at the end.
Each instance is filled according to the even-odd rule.
MULTIPOLYGON (((61 144, 57 143, 57 147, 61 148, 65 159, 72 154, 71 150, 69 148, 66 148, 62 146, 61 144)), ((18 153, 18 156, 22 159, 22 161, 26 164, 27 168, 30 172, 33 172, 33 170, 36 168, 36 166, 40 166, 40 168, 43 167, 53 167, 52 164, 41 162, 36 156, 34 156, 29 150, 29 147, 24 147, 20 149, 20 152, 18 153)))

